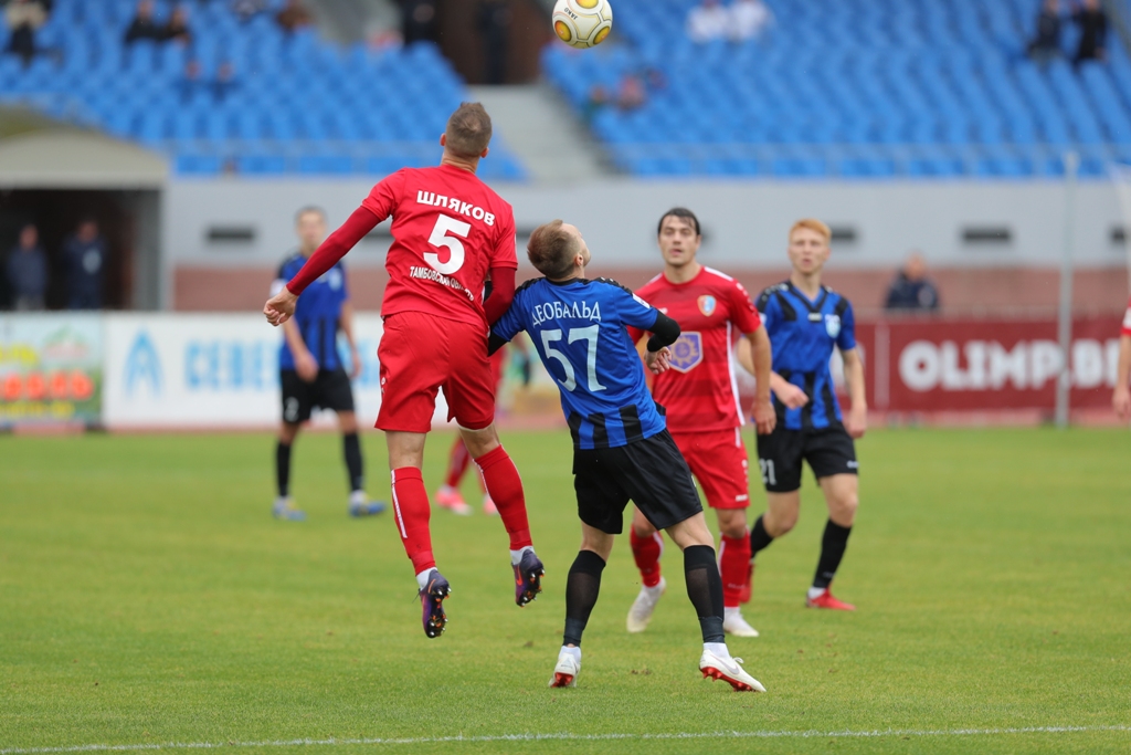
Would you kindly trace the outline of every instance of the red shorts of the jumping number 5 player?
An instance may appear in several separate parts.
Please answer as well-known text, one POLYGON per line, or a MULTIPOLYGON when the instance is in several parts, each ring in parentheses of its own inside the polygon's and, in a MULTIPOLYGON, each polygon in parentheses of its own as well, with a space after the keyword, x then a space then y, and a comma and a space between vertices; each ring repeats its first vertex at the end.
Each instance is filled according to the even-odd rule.
POLYGON ((377 357, 381 362, 378 429, 428 432, 441 388, 448 419, 459 427, 482 430, 494 422, 495 385, 485 326, 397 312, 385 320, 377 357))

